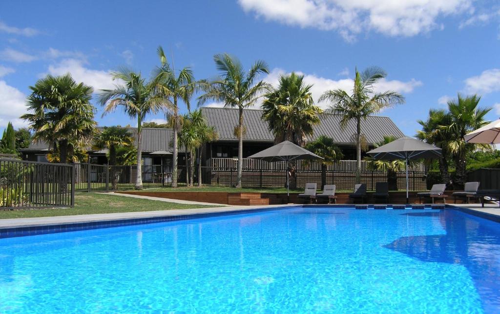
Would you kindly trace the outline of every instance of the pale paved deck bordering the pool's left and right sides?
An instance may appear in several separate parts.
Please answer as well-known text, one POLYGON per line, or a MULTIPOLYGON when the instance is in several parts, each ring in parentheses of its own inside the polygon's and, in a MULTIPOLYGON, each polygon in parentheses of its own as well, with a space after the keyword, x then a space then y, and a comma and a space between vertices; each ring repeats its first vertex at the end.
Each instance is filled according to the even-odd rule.
MULTIPOLYGON (((132 196, 137 197, 137 196, 132 196)), ((149 197, 145 197, 151 199, 149 197)), ((156 199, 156 198, 152 198, 156 199)), ((162 199, 165 201, 165 199, 162 199)), ((178 200, 175 200, 178 201, 178 200)), ((194 202, 196 203, 196 202, 194 202)), ((215 204, 212 204, 215 205, 215 204)), ((130 219, 144 219, 155 217, 172 217, 172 216, 185 216, 194 214, 209 214, 209 213, 223 213, 223 212, 237 212, 251 209, 262 209, 265 211, 269 208, 279 208, 287 206, 298 206, 299 204, 285 204, 285 205, 258 205, 258 206, 225 206, 213 208, 196 208, 196 209, 174 209, 166 211, 149 211, 149 212, 131 212, 131 213, 110 213, 110 214, 92 214, 92 215, 74 215, 74 216, 55 216, 55 217, 37 217, 37 218, 14 218, 14 219, 0 219, 0 229, 10 228, 25 228, 25 227, 39 227, 39 226, 53 226, 53 225, 69 225, 78 223, 93 223, 93 222, 106 222, 106 221, 120 221, 130 219)), ((341 204, 339 204, 341 205, 341 204)), ((417 204, 415 204, 417 205, 417 204)), ((481 208, 481 204, 447 204, 451 206, 468 208, 480 213, 486 213, 500 217, 500 208, 498 204, 485 204, 481 208)), ((337 205, 338 206, 338 205, 337 205)))

